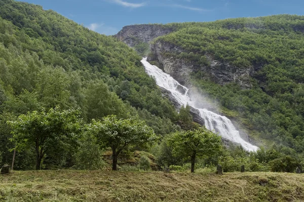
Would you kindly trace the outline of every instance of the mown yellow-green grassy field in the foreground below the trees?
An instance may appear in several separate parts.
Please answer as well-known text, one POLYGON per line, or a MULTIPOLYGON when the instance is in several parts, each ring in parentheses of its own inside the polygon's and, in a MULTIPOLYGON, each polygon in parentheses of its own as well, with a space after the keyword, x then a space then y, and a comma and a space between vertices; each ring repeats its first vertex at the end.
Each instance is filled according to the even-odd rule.
POLYGON ((15 171, 0 183, 0 201, 304 201, 304 175, 290 173, 15 171))

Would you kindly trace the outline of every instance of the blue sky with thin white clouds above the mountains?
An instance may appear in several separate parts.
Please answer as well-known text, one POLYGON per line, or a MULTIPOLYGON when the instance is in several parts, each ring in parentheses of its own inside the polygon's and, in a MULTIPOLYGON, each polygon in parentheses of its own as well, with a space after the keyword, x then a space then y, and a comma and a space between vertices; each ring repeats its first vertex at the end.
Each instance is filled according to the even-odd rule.
POLYGON ((23 0, 106 35, 131 24, 202 22, 276 14, 304 15, 303 0, 23 0))

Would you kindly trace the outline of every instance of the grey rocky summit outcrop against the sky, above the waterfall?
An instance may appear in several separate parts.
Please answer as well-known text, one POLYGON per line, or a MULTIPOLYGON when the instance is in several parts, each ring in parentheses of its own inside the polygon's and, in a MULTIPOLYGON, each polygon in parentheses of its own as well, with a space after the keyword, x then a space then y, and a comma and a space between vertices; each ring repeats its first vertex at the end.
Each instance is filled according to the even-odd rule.
POLYGON ((134 47, 137 43, 148 43, 153 39, 169 34, 171 28, 166 28, 163 25, 129 25, 115 35, 120 41, 125 42, 130 47, 134 47))

